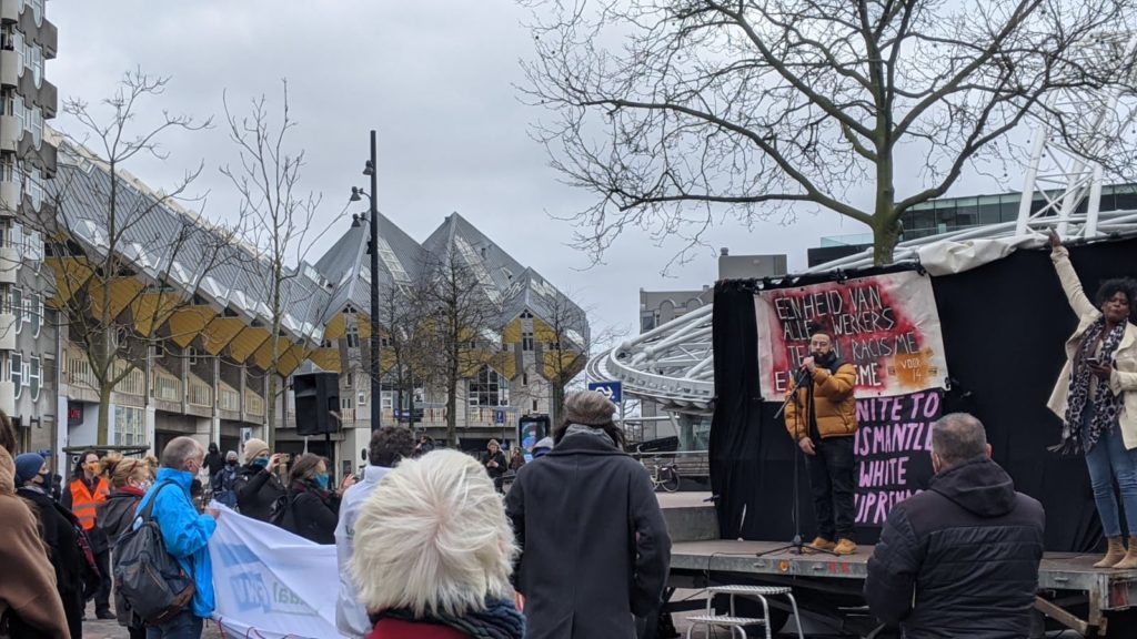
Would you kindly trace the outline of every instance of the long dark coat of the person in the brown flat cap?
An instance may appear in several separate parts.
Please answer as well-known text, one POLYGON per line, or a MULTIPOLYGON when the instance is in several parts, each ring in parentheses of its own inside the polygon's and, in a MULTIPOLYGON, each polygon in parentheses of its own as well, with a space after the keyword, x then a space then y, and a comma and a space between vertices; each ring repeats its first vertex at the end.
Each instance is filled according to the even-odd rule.
POLYGON ((647 471, 607 439, 565 438, 506 496, 526 639, 631 639, 662 604, 671 539, 647 471))

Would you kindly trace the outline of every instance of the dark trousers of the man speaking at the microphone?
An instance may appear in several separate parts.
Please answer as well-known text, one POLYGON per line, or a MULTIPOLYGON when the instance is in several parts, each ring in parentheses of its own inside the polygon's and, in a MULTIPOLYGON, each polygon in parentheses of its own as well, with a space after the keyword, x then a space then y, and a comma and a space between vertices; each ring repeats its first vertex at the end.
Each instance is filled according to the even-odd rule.
POLYGON ((829 541, 853 540, 853 489, 856 478, 853 439, 852 435, 814 439, 816 455, 805 456, 818 536, 829 541))

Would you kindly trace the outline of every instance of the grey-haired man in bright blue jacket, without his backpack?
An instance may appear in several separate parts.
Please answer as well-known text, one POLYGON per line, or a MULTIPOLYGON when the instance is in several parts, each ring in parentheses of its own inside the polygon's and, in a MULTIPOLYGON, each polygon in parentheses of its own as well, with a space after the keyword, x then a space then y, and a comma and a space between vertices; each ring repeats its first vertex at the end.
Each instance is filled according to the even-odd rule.
MULTIPOLYGON (((153 487, 139 503, 141 513, 153 499, 151 517, 158 522, 166 551, 193 578, 193 600, 168 622, 147 628, 147 639, 199 639, 204 620, 213 616, 213 564, 209 538, 217 529, 217 511, 198 513, 190 497, 193 479, 205 464, 206 451, 192 438, 179 437, 161 451, 161 467, 153 487)), ((135 522, 141 525, 141 520, 135 522)))

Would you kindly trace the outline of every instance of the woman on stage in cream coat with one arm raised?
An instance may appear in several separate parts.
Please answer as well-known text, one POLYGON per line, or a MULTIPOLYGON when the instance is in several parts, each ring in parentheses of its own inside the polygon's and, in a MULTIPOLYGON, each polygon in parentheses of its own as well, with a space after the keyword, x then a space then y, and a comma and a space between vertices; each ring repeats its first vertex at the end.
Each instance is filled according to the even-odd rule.
POLYGON ((1067 363, 1047 404, 1062 418, 1061 453, 1082 453, 1094 501, 1109 540, 1099 569, 1137 569, 1137 281, 1105 280, 1095 301, 1082 291, 1070 254, 1053 230, 1051 259, 1078 327, 1065 342, 1067 363), (1113 483, 1121 489, 1126 549, 1113 483))

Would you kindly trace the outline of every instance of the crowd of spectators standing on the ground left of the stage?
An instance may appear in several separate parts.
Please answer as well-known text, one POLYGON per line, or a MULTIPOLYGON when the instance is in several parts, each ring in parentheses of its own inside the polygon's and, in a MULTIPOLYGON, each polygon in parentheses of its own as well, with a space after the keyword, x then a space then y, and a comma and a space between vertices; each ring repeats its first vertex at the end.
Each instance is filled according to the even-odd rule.
POLYGON ((496 441, 479 459, 387 426, 373 433, 360 481, 349 475, 333 488, 317 455, 291 460, 251 439, 238 466, 217 447, 207 453, 179 437, 160 459, 80 455, 59 500, 44 488, 42 457, 13 459, 8 424, 0 521, 10 541, 0 562, 25 579, 0 581, 3 632, 82 637, 93 600, 97 616, 117 619, 132 639, 200 637, 216 604, 209 539, 224 516, 205 503, 231 493, 241 515, 337 546, 345 636, 634 637, 636 617, 657 614, 663 600, 671 548, 663 515, 650 480, 623 453, 612 403, 587 391, 570 396, 565 412, 551 440, 538 442, 536 463, 496 441), (588 472, 574 471, 582 466, 588 472), (503 497, 507 473, 513 486, 503 497), (557 524, 564 513, 576 515, 575 529, 557 524), (143 619, 131 589, 109 582, 123 576, 111 554, 130 555, 147 522, 192 588, 143 619), (563 551, 586 542, 584 557, 563 551), (587 597, 573 595, 586 588, 587 597))

